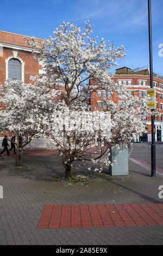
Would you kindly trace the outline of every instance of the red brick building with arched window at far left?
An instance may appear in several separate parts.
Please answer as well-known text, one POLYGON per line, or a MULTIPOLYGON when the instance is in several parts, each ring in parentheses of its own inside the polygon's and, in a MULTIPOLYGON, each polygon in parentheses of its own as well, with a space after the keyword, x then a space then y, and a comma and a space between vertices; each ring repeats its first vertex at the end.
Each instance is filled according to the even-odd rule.
POLYGON ((0 31, 0 83, 7 78, 29 83, 30 76, 41 74, 41 63, 34 62, 32 51, 24 35, 0 31))

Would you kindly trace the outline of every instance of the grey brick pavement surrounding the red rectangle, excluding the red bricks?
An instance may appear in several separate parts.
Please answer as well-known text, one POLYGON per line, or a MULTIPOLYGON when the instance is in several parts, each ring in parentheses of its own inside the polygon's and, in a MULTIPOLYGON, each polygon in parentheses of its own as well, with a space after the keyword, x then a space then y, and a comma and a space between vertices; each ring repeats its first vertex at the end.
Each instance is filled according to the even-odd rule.
MULTIPOLYGON (((162 245, 163 225, 37 228, 45 205, 156 205, 163 178, 129 161, 129 176, 93 177, 88 185, 57 181, 64 176, 57 156, 26 155, 24 168, 14 157, 2 157, 0 185, 0 245, 162 245), (30 167, 28 167, 30 166, 30 167)), ((80 169, 87 172, 87 167, 80 169)), ((78 171, 80 173, 80 171, 78 171)), ((162 218, 162 215, 161 215, 162 218)))

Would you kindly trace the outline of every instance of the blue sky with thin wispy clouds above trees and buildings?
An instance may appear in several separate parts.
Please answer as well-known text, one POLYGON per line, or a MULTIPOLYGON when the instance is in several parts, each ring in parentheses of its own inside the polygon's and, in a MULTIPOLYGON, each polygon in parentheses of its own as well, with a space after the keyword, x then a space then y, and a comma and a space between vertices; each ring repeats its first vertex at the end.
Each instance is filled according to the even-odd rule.
MULTIPOLYGON (((153 71, 163 76, 163 56, 159 56, 163 1, 151 2, 153 71)), ((0 4, 1 30, 37 38, 48 38, 62 21, 84 27, 85 20, 94 25, 93 37, 103 37, 115 47, 124 45, 126 58, 117 60, 117 68, 149 67, 147 0, 3 0, 0 4)))

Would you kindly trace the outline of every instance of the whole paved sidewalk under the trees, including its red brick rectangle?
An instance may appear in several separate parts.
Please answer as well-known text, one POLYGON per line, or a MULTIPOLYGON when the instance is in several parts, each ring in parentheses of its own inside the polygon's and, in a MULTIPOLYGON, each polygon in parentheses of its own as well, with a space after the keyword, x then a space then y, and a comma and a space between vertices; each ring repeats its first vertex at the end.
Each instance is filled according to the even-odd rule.
MULTIPOLYGON (((0 245, 163 244, 163 199, 158 196, 163 176, 152 178, 149 170, 129 160, 128 176, 111 178, 107 169, 104 174, 95 175, 93 171, 88 172, 86 165, 73 170, 73 175, 87 176, 87 183, 70 184, 62 179, 64 168, 54 151, 26 151, 22 168, 14 167, 14 154, 9 157, 5 154, 0 159, 0 185, 4 192, 3 199, 0 199, 0 245), (85 215, 85 222, 91 220, 91 227, 88 223, 76 228, 73 225, 67 225, 67 228, 65 225, 55 226, 56 207, 66 209, 62 211, 64 221, 72 217, 75 222, 80 217, 78 224, 82 223, 81 212, 84 211, 84 215, 89 213, 85 215), (39 228, 41 220, 48 222, 47 209, 53 211, 53 225, 39 228), (71 215, 67 209, 71 209, 71 215), (144 223, 136 224, 133 210, 144 223), (105 224, 113 221, 112 226, 104 225, 102 217, 103 220, 105 217, 105 224), (115 224, 114 218, 121 221, 121 226, 115 224), (132 218, 134 223, 125 218, 132 218), (95 222, 103 225, 97 227, 93 224, 95 222)), ((59 216, 61 224, 61 214, 59 216)))

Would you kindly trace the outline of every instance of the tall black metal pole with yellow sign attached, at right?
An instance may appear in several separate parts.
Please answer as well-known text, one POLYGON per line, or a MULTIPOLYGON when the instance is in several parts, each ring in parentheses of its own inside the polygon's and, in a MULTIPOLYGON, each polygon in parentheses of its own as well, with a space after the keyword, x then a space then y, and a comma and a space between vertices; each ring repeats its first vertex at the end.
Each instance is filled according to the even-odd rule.
MULTIPOLYGON (((151 28, 151 0, 148 0, 148 30, 149 30, 149 68, 150 83, 153 88, 153 62, 152 62, 152 28, 151 28)), ((154 132, 154 115, 151 115, 152 126, 152 144, 151 144, 151 176, 155 176, 155 132, 154 132)))

